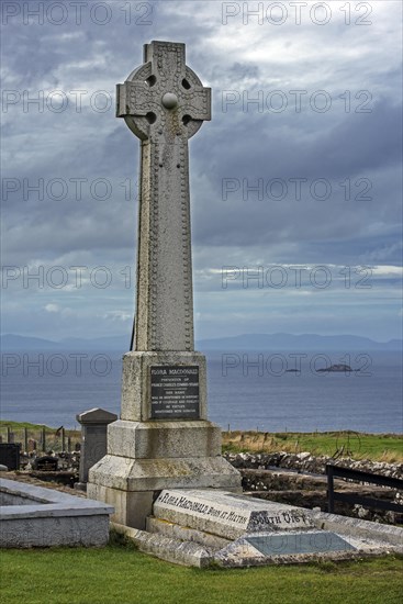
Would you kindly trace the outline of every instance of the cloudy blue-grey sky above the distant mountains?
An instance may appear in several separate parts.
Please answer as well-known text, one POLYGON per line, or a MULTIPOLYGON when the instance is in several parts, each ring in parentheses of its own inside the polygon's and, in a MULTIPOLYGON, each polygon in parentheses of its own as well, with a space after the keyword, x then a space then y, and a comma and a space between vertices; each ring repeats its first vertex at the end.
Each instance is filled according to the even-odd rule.
POLYGON ((115 85, 152 40, 212 88, 190 142, 198 338, 400 337, 402 4, 2 9, 2 333, 131 333, 138 139, 115 85))

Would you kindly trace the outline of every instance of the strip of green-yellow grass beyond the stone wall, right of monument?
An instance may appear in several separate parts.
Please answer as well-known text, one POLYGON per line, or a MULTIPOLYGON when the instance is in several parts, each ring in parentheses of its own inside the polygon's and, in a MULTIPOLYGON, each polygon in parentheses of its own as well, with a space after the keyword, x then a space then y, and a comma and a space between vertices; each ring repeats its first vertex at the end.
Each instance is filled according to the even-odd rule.
POLYGON ((402 462, 403 436, 363 434, 351 430, 322 433, 223 433, 223 450, 239 452, 310 451, 313 455, 352 457, 374 461, 402 462))

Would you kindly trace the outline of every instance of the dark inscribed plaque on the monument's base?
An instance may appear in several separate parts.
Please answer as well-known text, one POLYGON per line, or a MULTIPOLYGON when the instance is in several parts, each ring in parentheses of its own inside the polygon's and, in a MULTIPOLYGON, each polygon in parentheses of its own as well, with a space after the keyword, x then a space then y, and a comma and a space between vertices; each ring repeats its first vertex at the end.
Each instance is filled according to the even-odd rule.
POLYGON ((154 366, 150 368, 152 418, 199 418, 199 367, 154 366))

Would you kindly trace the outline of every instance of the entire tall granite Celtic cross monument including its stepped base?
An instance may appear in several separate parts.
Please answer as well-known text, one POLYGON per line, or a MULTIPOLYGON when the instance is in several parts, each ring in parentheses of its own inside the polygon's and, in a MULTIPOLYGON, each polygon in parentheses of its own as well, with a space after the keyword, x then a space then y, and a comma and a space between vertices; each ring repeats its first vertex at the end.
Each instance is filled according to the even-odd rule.
POLYGON ((184 44, 152 42, 117 85, 119 118, 141 139, 134 349, 123 357, 121 418, 89 471, 88 496, 144 528, 163 489, 238 490, 208 421, 205 357, 194 351, 188 139, 211 120, 211 90, 184 44))

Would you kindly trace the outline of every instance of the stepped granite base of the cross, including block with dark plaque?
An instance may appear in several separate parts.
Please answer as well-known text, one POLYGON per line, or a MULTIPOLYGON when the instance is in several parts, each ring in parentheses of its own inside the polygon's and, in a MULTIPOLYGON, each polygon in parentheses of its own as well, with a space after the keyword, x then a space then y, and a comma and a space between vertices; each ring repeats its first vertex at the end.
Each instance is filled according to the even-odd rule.
POLYGON ((124 355, 121 417, 87 486, 88 497, 114 506, 115 523, 144 529, 164 489, 240 491, 239 472, 221 457, 221 429, 206 418, 204 355, 124 355))

